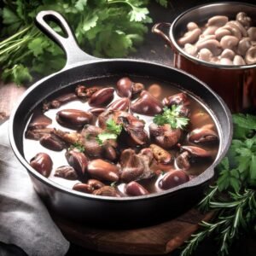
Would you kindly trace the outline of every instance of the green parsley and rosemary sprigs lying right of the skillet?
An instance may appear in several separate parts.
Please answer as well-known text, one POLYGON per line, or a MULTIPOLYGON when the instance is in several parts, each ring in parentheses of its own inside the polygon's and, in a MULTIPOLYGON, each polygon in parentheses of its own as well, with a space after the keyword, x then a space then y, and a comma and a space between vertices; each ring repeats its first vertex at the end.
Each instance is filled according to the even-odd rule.
POLYGON ((234 114, 234 137, 218 165, 219 176, 201 201, 202 211, 213 211, 211 223, 191 236, 181 256, 191 255, 207 236, 215 235, 219 255, 228 255, 242 233, 256 231, 256 116, 234 114))

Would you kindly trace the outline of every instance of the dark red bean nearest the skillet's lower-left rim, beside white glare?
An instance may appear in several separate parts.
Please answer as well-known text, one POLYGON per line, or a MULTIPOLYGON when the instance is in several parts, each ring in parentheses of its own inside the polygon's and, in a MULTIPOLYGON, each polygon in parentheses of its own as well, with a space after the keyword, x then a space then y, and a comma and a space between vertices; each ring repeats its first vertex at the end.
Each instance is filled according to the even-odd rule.
POLYGON ((42 174, 44 177, 49 177, 49 173, 52 169, 53 162, 49 157, 49 154, 38 153, 32 160, 30 160, 30 166, 32 166, 37 172, 42 174))

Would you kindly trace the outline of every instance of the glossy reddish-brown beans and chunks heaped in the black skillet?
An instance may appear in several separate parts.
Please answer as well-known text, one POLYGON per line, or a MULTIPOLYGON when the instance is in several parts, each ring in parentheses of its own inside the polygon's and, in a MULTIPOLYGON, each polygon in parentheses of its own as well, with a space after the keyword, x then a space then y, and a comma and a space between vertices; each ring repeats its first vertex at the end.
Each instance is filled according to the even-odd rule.
MULTIPOLYGON (((56 112, 56 122, 71 131, 52 127, 52 120, 36 111, 27 126, 26 138, 39 141, 49 150, 66 151, 68 165, 55 168, 54 175, 78 180, 74 190, 116 197, 148 195, 149 191, 139 181, 159 176, 163 170, 166 173, 158 181, 158 187, 171 189, 189 181, 186 170, 195 159, 211 159, 211 152, 201 148, 201 145, 217 142, 218 135, 212 126, 188 132, 168 124, 153 123, 155 114, 173 105, 180 106, 183 117, 189 117, 190 102, 183 92, 166 96, 160 101, 153 96, 156 92, 159 95, 160 86, 154 84, 152 88, 145 90, 143 84, 134 83, 129 78, 119 79, 116 89, 79 85, 75 93, 44 102, 43 106, 45 112, 74 100, 88 102, 89 109, 86 111, 62 108, 56 112), (118 99, 114 99, 116 95, 118 99), (152 117, 148 130, 145 121, 137 114, 152 117), (109 119, 121 125, 122 130, 116 139, 99 143, 97 138, 106 131, 109 119), (184 136, 194 146, 180 145, 180 138, 184 136), (74 145, 79 145, 82 150, 74 145), (177 155, 171 153, 172 148, 176 148, 177 155), (111 183, 125 183, 125 194, 112 187, 111 183)), ((53 160, 49 154, 41 152, 30 160, 30 165, 44 177, 49 177, 53 160)))

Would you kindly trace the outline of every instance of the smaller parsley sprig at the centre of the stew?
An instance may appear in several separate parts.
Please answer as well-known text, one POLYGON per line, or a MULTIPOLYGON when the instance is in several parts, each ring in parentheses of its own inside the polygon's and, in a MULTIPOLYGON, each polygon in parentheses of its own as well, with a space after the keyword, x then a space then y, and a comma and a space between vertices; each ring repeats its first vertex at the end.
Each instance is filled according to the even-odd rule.
POLYGON ((106 131, 103 131, 96 137, 96 141, 100 145, 103 145, 103 143, 109 139, 116 140, 123 128, 122 125, 116 124, 113 119, 108 119, 106 125, 106 131))

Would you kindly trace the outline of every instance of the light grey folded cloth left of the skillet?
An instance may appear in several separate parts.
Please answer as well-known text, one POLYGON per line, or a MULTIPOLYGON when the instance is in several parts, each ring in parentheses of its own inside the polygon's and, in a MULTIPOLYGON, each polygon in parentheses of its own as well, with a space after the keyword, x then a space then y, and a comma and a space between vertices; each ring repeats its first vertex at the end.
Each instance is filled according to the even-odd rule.
POLYGON ((0 241, 35 256, 65 255, 69 247, 10 148, 8 122, 0 125, 0 241))

